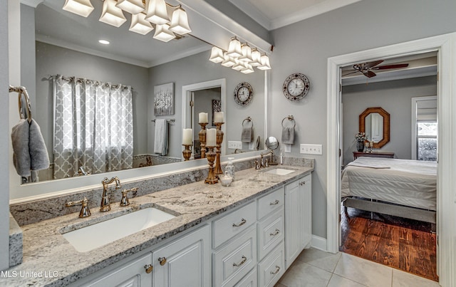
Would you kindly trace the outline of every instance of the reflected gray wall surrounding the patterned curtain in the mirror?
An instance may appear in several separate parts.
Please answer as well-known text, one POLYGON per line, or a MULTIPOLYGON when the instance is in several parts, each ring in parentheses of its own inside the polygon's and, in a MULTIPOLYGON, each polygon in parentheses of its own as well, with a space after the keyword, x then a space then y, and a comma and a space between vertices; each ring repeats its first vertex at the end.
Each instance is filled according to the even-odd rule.
POLYGON ((147 152, 147 68, 88 55, 77 51, 36 42, 36 119, 52 161, 53 96, 50 75, 76 76, 90 80, 121 83, 133 87, 133 152, 147 152))

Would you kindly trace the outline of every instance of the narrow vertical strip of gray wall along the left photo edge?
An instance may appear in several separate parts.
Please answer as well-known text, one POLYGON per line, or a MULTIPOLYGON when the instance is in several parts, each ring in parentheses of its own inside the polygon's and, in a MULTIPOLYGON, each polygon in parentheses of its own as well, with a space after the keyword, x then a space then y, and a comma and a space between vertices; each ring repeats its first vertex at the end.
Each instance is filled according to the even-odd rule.
MULTIPOLYGON (((9 147, 8 1, 0 0, 0 146, 9 147)), ((0 270, 9 267, 9 149, 0 149, 0 270)))

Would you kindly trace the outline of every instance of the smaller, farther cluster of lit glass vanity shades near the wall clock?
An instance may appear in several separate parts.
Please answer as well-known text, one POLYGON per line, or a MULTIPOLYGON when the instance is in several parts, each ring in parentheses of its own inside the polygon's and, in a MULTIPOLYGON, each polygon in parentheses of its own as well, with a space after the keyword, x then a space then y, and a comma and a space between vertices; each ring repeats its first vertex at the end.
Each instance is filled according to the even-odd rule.
POLYGON ((259 70, 271 69, 266 53, 261 55, 258 48, 251 48, 248 43, 241 43, 236 37, 231 38, 228 51, 213 46, 209 61, 245 74, 254 73, 254 67, 259 70))

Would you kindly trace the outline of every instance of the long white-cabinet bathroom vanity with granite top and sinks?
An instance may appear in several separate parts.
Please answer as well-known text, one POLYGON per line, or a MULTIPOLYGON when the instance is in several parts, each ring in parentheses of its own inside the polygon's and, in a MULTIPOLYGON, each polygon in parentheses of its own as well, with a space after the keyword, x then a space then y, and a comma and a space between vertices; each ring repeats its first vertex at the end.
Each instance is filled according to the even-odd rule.
POLYGON ((313 162, 286 163, 21 226, 23 263, 0 284, 274 286, 311 243, 313 162))

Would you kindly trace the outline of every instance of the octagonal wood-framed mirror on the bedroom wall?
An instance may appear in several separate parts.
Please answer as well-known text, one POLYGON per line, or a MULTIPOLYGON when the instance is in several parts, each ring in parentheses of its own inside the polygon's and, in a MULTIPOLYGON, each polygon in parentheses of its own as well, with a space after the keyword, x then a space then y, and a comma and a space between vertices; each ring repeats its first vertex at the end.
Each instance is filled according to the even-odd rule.
POLYGON ((366 132, 374 148, 383 147, 390 141, 390 114, 383 108, 367 108, 359 115, 359 130, 366 132))

